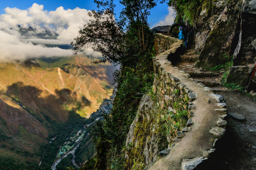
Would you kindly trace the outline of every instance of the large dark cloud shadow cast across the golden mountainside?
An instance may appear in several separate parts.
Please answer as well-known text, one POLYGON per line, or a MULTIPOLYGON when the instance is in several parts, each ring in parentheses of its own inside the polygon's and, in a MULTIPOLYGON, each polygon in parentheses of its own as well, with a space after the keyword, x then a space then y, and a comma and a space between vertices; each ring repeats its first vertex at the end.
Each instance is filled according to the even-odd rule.
POLYGON ((20 105, 27 108, 32 114, 36 115, 39 121, 45 120, 49 116, 56 122, 67 121, 68 114, 64 105, 70 105, 76 110, 76 105, 90 106, 90 101, 82 95, 79 97, 76 92, 70 89, 55 89, 55 95, 47 91, 40 90, 34 86, 24 85, 22 82, 14 83, 7 87, 5 95, 15 99, 20 105))

